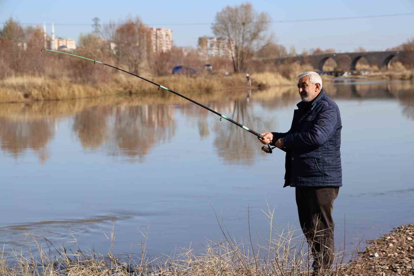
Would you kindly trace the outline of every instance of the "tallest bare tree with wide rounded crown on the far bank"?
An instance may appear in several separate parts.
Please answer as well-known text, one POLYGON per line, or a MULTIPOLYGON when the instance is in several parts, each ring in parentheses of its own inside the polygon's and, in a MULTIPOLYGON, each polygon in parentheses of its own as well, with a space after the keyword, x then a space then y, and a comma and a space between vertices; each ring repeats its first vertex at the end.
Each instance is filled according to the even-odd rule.
POLYGON ((250 3, 226 6, 217 12, 212 30, 215 36, 229 39, 233 69, 245 69, 246 61, 269 41, 267 30, 271 17, 265 12, 258 14, 250 3))

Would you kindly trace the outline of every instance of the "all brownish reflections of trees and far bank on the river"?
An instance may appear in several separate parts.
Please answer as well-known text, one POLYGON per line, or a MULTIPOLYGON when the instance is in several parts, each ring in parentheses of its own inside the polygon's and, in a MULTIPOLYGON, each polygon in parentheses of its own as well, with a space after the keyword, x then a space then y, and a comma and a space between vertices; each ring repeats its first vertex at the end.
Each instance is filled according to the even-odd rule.
MULTIPOLYGON (((412 82, 339 82, 327 83, 324 87, 335 99, 396 99, 402 106, 402 114, 414 120, 412 82)), ((220 122, 218 117, 211 121, 215 115, 195 104, 183 104, 179 97, 168 98, 169 105, 153 104, 159 101, 156 97, 159 96, 144 101, 129 97, 2 104, 1 149, 15 159, 32 150, 43 163, 53 154, 47 145, 55 137, 59 121, 73 116, 70 129, 85 150, 101 148, 111 156, 126 156, 132 162, 143 162, 157 144, 168 142, 175 135, 174 112, 178 108, 198 129, 201 139, 214 134, 214 147, 219 157, 233 164, 251 164, 257 154, 257 148, 250 148, 255 140, 251 133, 229 122, 220 122), (176 102, 171 102, 174 100, 176 102), (179 105, 171 105, 173 103, 179 105)), ((254 106, 272 111, 299 101, 294 87, 246 90, 231 97, 229 94, 201 95, 194 99, 255 131, 269 129, 272 118, 259 117, 263 114, 257 114, 254 106)))

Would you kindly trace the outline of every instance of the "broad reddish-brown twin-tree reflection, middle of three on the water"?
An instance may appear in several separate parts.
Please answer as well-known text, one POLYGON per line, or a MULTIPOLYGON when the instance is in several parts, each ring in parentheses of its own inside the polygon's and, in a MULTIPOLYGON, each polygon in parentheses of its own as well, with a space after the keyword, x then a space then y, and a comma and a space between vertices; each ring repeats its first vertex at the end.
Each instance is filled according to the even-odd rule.
POLYGON ((75 116, 73 131, 84 148, 104 146, 110 155, 142 162, 157 143, 174 136, 174 110, 167 105, 93 107, 75 116))

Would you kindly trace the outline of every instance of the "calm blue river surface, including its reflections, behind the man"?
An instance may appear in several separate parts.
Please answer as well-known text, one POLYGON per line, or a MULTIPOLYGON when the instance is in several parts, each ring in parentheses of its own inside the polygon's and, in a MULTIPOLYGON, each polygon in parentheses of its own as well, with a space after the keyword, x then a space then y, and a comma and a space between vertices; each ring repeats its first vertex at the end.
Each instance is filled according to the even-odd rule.
MULTIPOLYGON (((347 252, 414 223, 414 86, 325 85, 342 116, 343 186, 335 242, 347 252)), ((200 102, 256 132, 287 131, 296 90, 240 91, 200 102), (282 93, 283 92, 283 93, 282 93)), ((284 153, 261 153, 251 133, 171 97, 0 105, 0 245, 27 251, 32 233, 55 246, 157 256, 223 238, 214 211, 237 240, 296 228, 294 189, 282 188, 284 153), (139 230, 138 230, 138 229, 139 230)), ((197 100, 197 97, 195 98, 197 100)), ((43 245, 45 247, 46 245, 43 245)), ((33 250, 34 247, 32 247, 33 250)), ((37 249, 36 249, 37 250, 37 249)), ((36 251, 34 250, 34 251, 36 251)))

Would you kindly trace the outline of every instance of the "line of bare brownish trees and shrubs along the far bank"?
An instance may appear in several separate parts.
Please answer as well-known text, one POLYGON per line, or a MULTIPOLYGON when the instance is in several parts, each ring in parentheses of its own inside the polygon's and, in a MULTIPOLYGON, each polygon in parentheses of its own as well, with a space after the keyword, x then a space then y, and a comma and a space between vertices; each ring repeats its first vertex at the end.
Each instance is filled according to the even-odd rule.
MULTIPOLYGON (((94 18, 96 21, 97 18, 94 18)), ((289 51, 280 44, 270 30, 271 16, 266 12, 256 12, 249 3, 226 6, 217 12, 212 23, 212 32, 216 37, 229 39, 231 58, 203 57, 193 47, 172 46, 170 51, 154 51, 152 28, 139 17, 127 18, 121 22, 111 22, 102 29, 79 36, 78 47, 73 53, 105 61, 118 67, 140 74, 142 71, 154 75, 167 75, 175 65, 188 65, 197 69, 210 63, 214 70, 222 72, 245 72, 260 70, 262 60, 296 56, 296 48, 289 51)), ((95 26, 96 27, 96 26, 95 26)), ((48 37, 50 40, 50 37, 48 37)), ((0 53, 39 51, 44 48, 44 33, 40 26, 22 27, 10 18, 0 29, 0 53)), ((414 48, 414 39, 395 49, 414 48)), ((394 48, 393 48, 394 49, 394 48)), ((362 47, 356 51, 365 51, 362 47)), ((318 53, 332 53, 335 49, 315 48, 303 50, 303 56, 318 53)), ((407 64, 414 64, 414 55, 407 58, 407 64)), ((86 72, 89 64, 75 63, 60 65, 61 57, 39 54, 1 55, 0 66, 3 69, 0 78, 10 75, 49 74, 54 77, 63 75, 79 80, 104 80, 107 75, 101 72, 86 72), (53 59, 54 58, 54 59, 53 59), (53 68, 53 69, 52 69, 53 68), (58 69, 58 70, 56 70, 58 69)), ((95 70, 96 71, 96 70, 95 70)))

